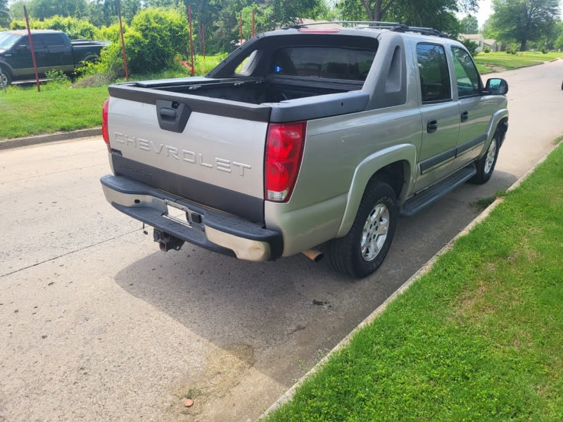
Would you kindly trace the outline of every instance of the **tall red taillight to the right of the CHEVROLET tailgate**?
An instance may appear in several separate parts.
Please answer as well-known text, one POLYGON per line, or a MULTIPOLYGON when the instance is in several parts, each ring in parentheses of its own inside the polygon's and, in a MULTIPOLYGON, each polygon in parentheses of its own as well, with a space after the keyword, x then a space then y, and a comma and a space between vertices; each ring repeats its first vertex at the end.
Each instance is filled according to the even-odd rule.
POLYGON ((266 200, 289 200, 301 165, 306 124, 272 123, 268 126, 264 169, 266 200))

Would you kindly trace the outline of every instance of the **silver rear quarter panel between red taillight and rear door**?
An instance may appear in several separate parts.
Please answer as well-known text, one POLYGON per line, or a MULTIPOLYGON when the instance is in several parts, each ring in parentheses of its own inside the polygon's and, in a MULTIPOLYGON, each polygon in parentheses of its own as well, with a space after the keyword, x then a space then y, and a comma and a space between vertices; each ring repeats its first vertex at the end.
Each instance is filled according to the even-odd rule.
POLYGON ((409 155, 414 172, 420 126, 418 109, 407 106, 308 122, 291 200, 265 202, 267 227, 284 234, 284 256, 346 234, 346 216, 353 221, 367 181, 389 160, 409 155), (411 146, 409 153, 386 153, 398 145, 411 146))

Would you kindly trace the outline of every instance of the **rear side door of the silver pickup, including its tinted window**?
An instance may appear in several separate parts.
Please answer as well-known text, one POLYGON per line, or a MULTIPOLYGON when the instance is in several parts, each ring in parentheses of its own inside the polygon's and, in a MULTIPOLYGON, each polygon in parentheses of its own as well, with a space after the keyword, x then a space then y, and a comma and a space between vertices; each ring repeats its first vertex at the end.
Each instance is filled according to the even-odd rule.
POLYGON ((453 101, 450 70, 444 46, 417 44, 422 115, 422 146, 415 190, 452 172, 460 130, 458 105, 453 101))

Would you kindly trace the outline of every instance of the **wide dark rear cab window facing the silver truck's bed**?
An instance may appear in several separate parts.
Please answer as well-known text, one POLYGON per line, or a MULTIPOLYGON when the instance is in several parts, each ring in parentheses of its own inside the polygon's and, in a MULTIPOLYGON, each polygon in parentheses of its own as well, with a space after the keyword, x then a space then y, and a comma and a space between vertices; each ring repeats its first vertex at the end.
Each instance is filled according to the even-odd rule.
POLYGON ((277 75, 365 80, 375 51, 331 46, 287 47, 274 51, 272 73, 277 75))

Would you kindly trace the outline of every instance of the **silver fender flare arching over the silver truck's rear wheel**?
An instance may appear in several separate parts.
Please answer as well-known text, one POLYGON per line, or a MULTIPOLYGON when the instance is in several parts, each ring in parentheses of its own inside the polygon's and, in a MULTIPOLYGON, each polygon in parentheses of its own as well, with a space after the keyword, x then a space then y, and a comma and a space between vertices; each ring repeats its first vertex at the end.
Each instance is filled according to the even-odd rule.
MULTIPOLYGON (((377 151, 372 155, 368 155, 356 167, 350 189, 348 190, 348 199, 346 200, 346 209, 342 217, 338 233, 336 237, 346 236, 352 226, 360 201, 364 195, 365 188, 376 174, 382 168, 393 164, 393 162, 408 162, 409 174, 405 171, 403 183, 407 184, 403 188, 403 192, 409 192, 415 184, 415 174, 417 166, 417 147, 410 143, 403 143, 384 150, 377 151)), ((406 169, 405 169, 406 170, 406 169)))

